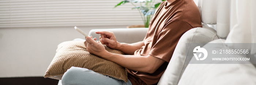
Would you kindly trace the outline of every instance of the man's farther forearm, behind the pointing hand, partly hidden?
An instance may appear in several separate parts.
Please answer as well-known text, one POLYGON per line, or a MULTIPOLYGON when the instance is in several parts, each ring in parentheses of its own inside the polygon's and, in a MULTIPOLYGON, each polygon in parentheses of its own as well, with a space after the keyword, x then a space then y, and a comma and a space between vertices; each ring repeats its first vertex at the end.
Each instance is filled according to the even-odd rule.
POLYGON ((144 42, 136 42, 132 44, 127 43, 118 43, 118 47, 116 50, 122 51, 125 54, 133 55, 136 50, 139 50, 142 46, 144 46, 144 42))

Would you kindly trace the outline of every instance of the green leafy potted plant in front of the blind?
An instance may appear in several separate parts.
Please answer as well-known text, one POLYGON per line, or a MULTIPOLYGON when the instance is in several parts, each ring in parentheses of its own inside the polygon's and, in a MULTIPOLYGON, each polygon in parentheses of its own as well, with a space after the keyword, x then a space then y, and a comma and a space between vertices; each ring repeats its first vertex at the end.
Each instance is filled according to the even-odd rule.
MULTIPOLYGON (((162 0, 162 1, 165 1, 165 0, 162 0)), ((114 8, 116 8, 119 5, 123 5, 125 3, 131 3, 134 6, 132 9, 138 9, 145 27, 148 27, 150 20, 155 13, 155 9, 157 9, 157 7, 161 4, 161 3, 154 4, 155 0, 122 0, 120 3, 115 5, 114 8), (134 3, 140 3, 140 5, 137 6, 134 3)))

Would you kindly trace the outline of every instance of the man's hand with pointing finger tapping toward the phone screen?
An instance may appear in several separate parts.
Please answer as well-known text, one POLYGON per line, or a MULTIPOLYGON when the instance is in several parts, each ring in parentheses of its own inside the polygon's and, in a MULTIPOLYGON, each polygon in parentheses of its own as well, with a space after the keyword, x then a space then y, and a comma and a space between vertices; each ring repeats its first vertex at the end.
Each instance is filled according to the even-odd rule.
POLYGON ((114 36, 113 32, 107 32, 107 31, 97 31, 96 34, 100 34, 99 41, 110 47, 111 49, 116 49, 118 47, 118 42, 116 41, 116 36, 114 36))

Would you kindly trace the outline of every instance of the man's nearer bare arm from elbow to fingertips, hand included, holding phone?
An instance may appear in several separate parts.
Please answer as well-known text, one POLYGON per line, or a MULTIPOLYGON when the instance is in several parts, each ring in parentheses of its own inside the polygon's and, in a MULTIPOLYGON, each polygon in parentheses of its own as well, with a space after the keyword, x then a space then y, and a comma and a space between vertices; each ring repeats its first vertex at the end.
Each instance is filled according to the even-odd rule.
POLYGON ((89 37, 86 38, 84 45, 86 46, 87 51, 91 54, 115 62, 127 69, 139 72, 154 73, 165 62, 160 58, 153 57, 152 55, 139 56, 109 53, 105 50, 104 46, 89 37))

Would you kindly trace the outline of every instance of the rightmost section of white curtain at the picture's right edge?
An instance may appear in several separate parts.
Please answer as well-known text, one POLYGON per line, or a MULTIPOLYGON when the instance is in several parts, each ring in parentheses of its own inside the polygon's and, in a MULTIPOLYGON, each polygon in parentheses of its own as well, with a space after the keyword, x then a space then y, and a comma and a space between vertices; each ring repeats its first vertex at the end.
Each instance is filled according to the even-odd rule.
MULTIPOLYGON (((230 32, 225 43, 256 43, 256 1, 231 0, 230 3, 230 32)), ((227 45, 234 49, 251 49, 251 54, 256 53, 254 44, 227 45)))

